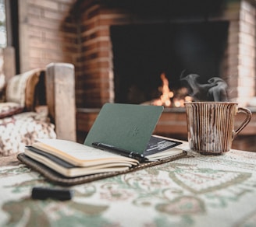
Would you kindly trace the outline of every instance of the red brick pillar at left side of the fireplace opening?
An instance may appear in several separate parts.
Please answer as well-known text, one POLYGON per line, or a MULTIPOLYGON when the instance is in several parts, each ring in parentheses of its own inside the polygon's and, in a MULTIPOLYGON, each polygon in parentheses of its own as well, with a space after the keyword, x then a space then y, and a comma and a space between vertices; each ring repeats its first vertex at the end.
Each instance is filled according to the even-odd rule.
POLYGON ((84 107, 101 107, 114 102, 112 44, 109 26, 126 16, 102 5, 80 5, 81 58, 84 61, 84 107))

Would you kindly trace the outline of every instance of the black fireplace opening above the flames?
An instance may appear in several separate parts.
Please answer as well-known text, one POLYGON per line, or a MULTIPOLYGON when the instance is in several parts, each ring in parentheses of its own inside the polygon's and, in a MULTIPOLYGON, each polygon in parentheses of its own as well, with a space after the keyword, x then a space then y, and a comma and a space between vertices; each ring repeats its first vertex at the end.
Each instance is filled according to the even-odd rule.
POLYGON ((111 26, 115 102, 157 99, 162 73, 174 93, 184 70, 202 83, 222 77, 228 29, 226 21, 111 26))

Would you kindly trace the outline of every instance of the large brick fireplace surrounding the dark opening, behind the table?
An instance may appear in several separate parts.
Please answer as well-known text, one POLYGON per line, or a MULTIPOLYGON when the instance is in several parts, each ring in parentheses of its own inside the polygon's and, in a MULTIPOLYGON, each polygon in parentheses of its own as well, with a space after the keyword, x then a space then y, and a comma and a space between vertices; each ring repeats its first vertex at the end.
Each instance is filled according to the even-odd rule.
MULTIPOLYGON (((205 80, 219 76, 229 86, 229 100, 246 107, 255 96, 255 5, 256 2, 249 0, 78 1, 75 9, 80 21, 80 60, 76 67, 76 97, 78 106, 82 107, 77 113, 77 130, 82 136, 78 138, 84 140, 84 131, 90 129, 104 103, 140 102, 140 99, 127 100, 127 91, 133 86, 130 81, 139 87, 148 86, 151 91, 146 97, 151 99, 148 94, 158 88, 162 71, 166 72, 173 89, 180 86, 179 77, 183 69, 189 68, 191 72, 203 75, 205 80), (204 34, 203 26, 208 27, 212 38, 204 34), (166 30, 169 33, 165 33, 166 30), (181 38, 173 36, 181 30, 193 31, 181 38), (182 51, 195 46, 184 45, 192 40, 196 30, 202 34, 194 45, 208 39, 210 42, 205 47, 212 49, 200 54, 192 50, 186 55, 182 51), (158 36, 155 36, 156 33, 158 36), (136 37, 139 40, 134 41, 136 37), (173 41, 175 39, 185 42, 179 47, 173 41), (169 40, 174 43, 162 47, 169 40), (176 55, 170 54, 174 47, 180 48, 176 55), (142 55, 140 49, 150 52, 142 55), (179 55, 181 53, 182 56, 179 55), (176 61, 177 58, 183 61, 176 61)), ((254 118, 241 139, 236 140, 235 148, 241 148, 240 141, 247 141, 254 147, 254 118)), ((165 110, 155 133, 186 139, 184 110, 165 110)))

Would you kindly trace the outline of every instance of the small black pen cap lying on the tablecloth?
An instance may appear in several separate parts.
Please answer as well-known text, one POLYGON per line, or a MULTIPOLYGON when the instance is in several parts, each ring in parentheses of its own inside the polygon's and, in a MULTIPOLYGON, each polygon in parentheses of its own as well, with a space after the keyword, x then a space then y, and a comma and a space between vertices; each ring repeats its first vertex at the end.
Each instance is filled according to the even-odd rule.
POLYGON ((53 198, 60 201, 67 201, 73 197, 73 191, 66 189, 52 189, 47 187, 33 187, 31 197, 39 200, 53 198))

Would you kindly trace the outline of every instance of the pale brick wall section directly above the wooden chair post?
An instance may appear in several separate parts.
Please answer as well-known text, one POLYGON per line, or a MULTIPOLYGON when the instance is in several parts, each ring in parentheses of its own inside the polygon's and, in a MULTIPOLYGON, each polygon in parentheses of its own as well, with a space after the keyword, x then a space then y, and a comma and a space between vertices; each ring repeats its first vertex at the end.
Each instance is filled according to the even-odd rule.
MULTIPOLYGON (((18 0, 20 72, 42 68, 51 62, 73 63, 80 68, 75 2, 18 0)), ((76 100, 79 105, 80 99, 76 100)))

